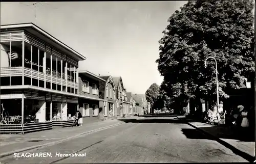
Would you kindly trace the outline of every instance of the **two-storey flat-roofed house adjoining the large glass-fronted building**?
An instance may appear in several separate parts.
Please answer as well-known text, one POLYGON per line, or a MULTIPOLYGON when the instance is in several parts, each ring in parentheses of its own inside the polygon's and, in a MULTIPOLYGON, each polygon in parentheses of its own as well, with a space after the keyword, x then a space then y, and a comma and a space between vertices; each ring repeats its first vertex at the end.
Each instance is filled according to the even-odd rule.
POLYGON ((106 80, 89 71, 79 70, 78 75, 78 94, 83 96, 78 98, 78 107, 83 122, 98 121, 99 113, 101 111, 106 113, 103 111, 104 107, 100 106, 105 100, 99 96, 99 86, 101 83, 106 83, 106 80))

